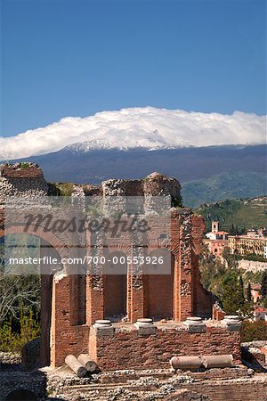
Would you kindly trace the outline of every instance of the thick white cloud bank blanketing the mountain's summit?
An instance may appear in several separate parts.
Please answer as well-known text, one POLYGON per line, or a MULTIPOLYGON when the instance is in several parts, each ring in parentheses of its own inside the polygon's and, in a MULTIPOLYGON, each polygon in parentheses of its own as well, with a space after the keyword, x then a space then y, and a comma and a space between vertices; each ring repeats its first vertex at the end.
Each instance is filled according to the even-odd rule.
MULTIPOLYGON (((0 160, 58 151, 72 143, 88 149, 147 149, 266 142, 266 116, 231 115, 152 107, 67 117, 47 127, 0 137, 0 160)), ((77 149, 74 146, 73 149, 77 149)))

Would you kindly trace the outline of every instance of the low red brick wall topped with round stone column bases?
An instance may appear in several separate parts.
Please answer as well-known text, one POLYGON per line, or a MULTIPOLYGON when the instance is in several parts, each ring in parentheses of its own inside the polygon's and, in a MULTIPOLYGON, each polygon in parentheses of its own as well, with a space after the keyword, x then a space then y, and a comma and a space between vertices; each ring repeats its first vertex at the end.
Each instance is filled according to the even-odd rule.
POLYGON ((182 325, 158 329, 142 336, 134 326, 115 331, 113 337, 97 337, 90 331, 89 352, 101 369, 167 368, 172 356, 232 354, 239 362, 239 331, 207 327, 205 333, 189 333, 182 325))

